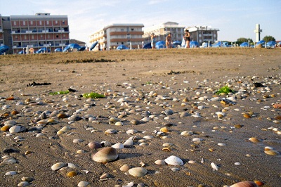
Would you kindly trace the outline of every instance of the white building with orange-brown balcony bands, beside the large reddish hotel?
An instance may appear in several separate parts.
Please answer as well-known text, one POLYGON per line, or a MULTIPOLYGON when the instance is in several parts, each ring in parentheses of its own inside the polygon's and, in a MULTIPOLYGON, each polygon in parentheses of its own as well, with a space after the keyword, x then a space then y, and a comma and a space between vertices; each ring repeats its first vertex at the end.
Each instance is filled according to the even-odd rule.
POLYGON ((129 49, 141 48, 143 41, 143 24, 112 24, 94 32, 90 36, 90 44, 98 41, 104 49, 114 49, 125 45, 129 49))

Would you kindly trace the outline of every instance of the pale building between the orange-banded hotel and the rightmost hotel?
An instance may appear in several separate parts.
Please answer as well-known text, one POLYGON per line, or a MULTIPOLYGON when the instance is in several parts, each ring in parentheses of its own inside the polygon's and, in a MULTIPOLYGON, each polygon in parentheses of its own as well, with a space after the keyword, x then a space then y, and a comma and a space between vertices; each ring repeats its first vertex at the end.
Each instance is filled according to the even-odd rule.
POLYGON ((150 43, 150 35, 154 33, 156 35, 156 41, 166 40, 166 36, 171 33, 172 41, 182 41, 183 30, 185 26, 178 25, 177 22, 164 22, 160 25, 155 25, 144 29, 143 40, 144 44, 150 43))

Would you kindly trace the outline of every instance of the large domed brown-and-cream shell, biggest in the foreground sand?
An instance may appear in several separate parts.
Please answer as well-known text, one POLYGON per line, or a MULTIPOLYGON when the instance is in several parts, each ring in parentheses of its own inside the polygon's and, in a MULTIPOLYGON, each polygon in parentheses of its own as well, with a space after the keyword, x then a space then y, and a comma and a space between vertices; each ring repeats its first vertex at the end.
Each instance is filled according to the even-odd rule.
POLYGON ((107 147, 99 150, 96 154, 92 156, 93 161, 96 162, 111 162, 116 160, 118 157, 115 148, 107 147))

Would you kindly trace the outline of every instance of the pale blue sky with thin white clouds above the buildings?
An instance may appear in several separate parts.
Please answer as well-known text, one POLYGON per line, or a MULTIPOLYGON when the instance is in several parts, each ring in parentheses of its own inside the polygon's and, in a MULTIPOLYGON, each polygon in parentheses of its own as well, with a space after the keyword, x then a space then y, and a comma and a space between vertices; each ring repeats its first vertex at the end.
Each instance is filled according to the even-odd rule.
POLYGON ((88 42, 89 35, 112 23, 143 23, 145 27, 178 22, 185 27, 202 25, 220 30, 219 40, 240 37, 256 41, 261 25, 267 35, 281 40, 280 0, 0 0, 0 14, 67 15, 70 39, 88 42))

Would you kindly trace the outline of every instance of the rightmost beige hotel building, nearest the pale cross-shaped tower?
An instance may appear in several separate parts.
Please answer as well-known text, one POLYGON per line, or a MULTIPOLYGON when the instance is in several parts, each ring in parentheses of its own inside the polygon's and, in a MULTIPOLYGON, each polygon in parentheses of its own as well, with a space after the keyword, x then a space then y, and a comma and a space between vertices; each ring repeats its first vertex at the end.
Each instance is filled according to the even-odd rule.
POLYGON ((203 42, 212 44, 218 40, 218 29, 212 29, 211 26, 195 26, 186 27, 185 29, 190 32, 191 41, 197 41, 200 45, 203 42))

